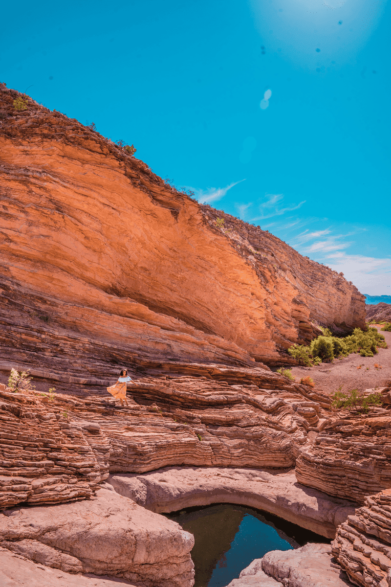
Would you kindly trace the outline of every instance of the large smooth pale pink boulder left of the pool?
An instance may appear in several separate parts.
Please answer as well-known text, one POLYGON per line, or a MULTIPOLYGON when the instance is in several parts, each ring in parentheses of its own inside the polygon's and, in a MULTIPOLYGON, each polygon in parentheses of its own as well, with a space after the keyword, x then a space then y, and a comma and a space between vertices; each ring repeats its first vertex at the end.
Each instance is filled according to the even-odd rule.
POLYGON ((89 501, 0 514, 2 548, 59 571, 145 587, 191 587, 193 544, 176 522, 105 489, 89 501))

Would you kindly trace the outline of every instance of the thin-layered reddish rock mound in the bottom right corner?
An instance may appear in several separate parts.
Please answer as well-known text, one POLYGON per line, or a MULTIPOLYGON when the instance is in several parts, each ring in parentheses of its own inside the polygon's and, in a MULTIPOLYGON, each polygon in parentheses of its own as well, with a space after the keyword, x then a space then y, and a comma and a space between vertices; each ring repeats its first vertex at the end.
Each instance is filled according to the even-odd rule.
POLYGON ((391 490, 367 497, 341 524, 332 552, 355 585, 391 585, 391 490))

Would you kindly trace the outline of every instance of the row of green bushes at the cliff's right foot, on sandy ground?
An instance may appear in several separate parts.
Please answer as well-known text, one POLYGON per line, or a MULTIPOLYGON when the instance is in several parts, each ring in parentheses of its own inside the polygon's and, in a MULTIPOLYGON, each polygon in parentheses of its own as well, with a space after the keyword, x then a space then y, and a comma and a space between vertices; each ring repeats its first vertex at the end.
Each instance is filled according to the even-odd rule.
POLYGON ((288 353, 297 360, 299 365, 310 367, 319 363, 332 362, 335 358, 342 359, 351 353, 360 353, 362 357, 373 357, 378 348, 387 348, 383 335, 376 328, 366 331, 355 328, 353 333, 344 338, 333 336, 328 329, 322 329, 323 335, 312 340, 311 344, 293 345, 288 353))

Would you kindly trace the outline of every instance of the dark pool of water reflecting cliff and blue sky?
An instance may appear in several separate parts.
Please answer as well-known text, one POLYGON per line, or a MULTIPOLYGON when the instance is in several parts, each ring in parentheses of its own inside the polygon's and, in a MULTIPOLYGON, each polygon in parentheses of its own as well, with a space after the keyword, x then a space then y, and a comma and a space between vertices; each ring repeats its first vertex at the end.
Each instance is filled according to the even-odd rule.
POLYGON ((195 587, 228 585, 266 552, 327 542, 295 524, 241 505, 209 505, 166 515, 194 535, 195 587))

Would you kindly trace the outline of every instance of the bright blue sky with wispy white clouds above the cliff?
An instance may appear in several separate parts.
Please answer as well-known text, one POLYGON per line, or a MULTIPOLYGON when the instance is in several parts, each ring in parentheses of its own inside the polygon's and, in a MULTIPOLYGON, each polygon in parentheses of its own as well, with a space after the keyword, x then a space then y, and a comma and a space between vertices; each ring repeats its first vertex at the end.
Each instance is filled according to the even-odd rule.
POLYGON ((390 16, 386 0, 21 0, 2 6, 0 81, 391 294, 390 16))

